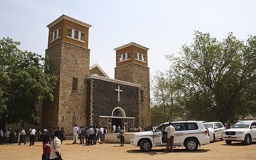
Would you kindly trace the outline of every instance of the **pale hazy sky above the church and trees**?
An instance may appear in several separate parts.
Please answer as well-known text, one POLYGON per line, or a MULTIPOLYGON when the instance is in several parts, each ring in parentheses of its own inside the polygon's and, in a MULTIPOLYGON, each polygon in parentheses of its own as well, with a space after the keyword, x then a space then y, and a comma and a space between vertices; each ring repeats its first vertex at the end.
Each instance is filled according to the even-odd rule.
POLYGON ((11 37, 20 49, 45 56, 50 22, 62 14, 92 25, 90 65, 98 63, 111 78, 116 47, 136 42, 149 48, 151 75, 166 70, 164 55, 177 55, 194 31, 218 40, 233 32, 256 35, 256 1, 11 1, 0 2, 0 38, 11 37))

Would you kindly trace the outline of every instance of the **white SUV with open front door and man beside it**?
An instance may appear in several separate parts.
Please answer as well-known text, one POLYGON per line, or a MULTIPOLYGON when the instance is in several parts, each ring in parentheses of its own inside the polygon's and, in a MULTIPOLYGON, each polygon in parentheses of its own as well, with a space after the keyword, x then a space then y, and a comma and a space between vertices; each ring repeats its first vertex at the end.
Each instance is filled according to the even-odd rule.
MULTIPOLYGON (((202 121, 175 121, 174 146, 186 147, 188 151, 196 151, 198 146, 209 144, 208 130, 202 121)), ((154 131, 138 132, 133 135, 131 144, 142 151, 150 151, 152 147, 166 146, 167 133, 164 129, 169 122, 161 123, 154 131)))

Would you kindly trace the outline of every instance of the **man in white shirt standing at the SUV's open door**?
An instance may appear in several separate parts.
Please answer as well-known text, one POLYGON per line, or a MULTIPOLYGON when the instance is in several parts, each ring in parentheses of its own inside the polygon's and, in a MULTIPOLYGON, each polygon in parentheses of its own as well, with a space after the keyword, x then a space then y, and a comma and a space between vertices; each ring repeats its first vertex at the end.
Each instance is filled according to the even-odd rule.
POLYGON ((164 131, 167 132, 167 146, 164 152, 173 152, 175 128, 172 123, 169 122, 164 131))

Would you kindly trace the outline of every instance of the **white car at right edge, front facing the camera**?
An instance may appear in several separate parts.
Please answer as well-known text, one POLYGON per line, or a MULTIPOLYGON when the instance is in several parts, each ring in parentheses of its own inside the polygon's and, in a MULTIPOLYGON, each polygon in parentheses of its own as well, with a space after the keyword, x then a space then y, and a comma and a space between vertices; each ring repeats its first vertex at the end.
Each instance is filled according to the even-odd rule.
POLYGON ((230 129, 223 131, 222 138, 228 145, 232 141, 240 141, 249 145, 252 140, 256 140, 256 121, 237 122, 230 129))

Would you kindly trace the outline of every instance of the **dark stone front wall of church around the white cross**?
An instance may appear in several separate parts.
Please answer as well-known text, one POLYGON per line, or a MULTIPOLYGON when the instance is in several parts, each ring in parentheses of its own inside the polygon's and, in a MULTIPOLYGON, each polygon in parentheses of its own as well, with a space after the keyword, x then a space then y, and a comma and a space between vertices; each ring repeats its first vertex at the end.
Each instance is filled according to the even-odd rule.
POLYGON ((90 78, 88 85, 91 90, 88 110, 91 116, 88 116, 87 125, 99 125, 99 116, 112 116, 112 111, 116 107, 121 107, 126 117, 134 117, 135 123, 139 123, 139 88, 131 85, 119 84, 110 81, 90 78), (120 101, 117 100, 117 92, 115 89, 120 86, 120 101), (90 120, 90 118, 92 118, 90 120))

